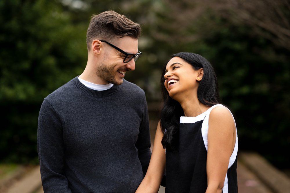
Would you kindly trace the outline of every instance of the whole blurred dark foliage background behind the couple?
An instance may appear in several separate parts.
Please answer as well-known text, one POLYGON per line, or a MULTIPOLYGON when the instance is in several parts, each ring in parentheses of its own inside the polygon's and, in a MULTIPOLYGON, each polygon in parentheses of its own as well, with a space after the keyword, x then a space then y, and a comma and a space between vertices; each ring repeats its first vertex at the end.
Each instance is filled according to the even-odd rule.
MULTIPOLYGON (((126 79, 160 102, 171 54, 195 52, 214 66, 234 113, 240 150, 289 168, 290 5, 286 0, 0 1, 1 162, 37 163, 43 99, 82 73, 92 14, 125 14, 142 25, 142 57, 126 79)), ((156 117, 158 118, 158 117, 156 117)))

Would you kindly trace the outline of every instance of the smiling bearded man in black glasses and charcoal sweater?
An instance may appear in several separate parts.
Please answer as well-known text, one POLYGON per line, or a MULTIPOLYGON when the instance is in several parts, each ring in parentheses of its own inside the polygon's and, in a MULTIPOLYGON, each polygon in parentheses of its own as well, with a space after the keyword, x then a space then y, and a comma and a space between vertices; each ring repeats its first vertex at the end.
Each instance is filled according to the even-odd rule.
POLYGON ((37 151, 44 192, 135 192, 151 157, 144 91, 124 80, 135 69, 139 24, 114 11, 91 18, 88 62, 48 95, 37 151))

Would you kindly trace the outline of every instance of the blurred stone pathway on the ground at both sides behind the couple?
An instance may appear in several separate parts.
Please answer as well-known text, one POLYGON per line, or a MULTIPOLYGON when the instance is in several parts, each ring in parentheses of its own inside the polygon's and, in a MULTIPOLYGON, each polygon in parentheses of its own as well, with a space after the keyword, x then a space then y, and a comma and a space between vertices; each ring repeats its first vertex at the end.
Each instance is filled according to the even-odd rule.
MULTIPOLYGON (((238 158, 237 174, 238 190, 240 193, 289 192, 290 179, 282 172, 276 170, 273 166, 267 163, 258 154, 241 152, 238 158), (251 168, 256 168, 256 170, 251 168), (267 180, 270 182, 267 182, 267 180), (280 189, 277 187, 275 189, 275 184, 277 184, 279 186, 278 188, 280 189)), ((163 192, 165 192, 165 188, 161 186, 158 193, 163 192)), ((7 188, 1 193, 43 193, 39 166, 36 166, 22 178, 14 181, 10 188, 7 188)))

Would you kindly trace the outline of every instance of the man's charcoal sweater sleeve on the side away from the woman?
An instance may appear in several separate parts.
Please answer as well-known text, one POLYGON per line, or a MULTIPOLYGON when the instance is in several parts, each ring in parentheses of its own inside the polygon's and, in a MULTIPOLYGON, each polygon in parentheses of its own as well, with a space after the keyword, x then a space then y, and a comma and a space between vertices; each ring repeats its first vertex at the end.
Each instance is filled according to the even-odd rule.
POLYGON ((44 100, 38 117, 37 153, 44 192, 71 192, 64 174, 64 141, 59 115, 44 100))

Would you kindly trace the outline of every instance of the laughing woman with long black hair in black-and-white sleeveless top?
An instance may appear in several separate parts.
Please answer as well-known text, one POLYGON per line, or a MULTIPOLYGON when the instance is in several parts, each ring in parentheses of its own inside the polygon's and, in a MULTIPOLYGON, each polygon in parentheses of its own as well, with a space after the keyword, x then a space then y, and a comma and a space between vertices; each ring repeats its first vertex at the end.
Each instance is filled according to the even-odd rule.
POLYGON ((213 67, 198 54, 174 54, 162 75, 164 107, 147 173, 136 192, 238 192, 238 136, 220 104, 213 67))

